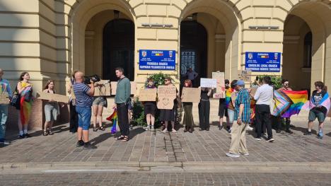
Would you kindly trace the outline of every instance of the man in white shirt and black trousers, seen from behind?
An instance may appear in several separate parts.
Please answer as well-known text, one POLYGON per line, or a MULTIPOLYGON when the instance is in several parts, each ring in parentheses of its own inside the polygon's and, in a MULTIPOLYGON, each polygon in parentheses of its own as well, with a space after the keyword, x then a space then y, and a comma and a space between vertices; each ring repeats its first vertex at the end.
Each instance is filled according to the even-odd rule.
POLYGON ((263 78, 263 85, 257 88, 254 95, 254 99, 257 101, 255 105, 255 119, 256 119, 256 131, 257 139, 261 140, 262 126, 265 124, 267 127, 268 142, 274 141, 272 138, 272 124, 270 122, 270 101, 273 99, 274 88, 270 86, 271 78, 265 76, 263 78))

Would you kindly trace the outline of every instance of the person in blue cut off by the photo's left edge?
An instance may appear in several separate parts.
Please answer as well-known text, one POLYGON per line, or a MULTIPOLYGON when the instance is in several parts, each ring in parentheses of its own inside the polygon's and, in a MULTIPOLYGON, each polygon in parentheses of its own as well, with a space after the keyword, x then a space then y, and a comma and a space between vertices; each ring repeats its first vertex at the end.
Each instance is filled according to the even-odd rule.
MULTIPOLYGON (((3 79, 4 71, 0 69, 0 93, 8 93, 9 99, 13 97, 13 93, 11 93, 11 85, 9 81, 3 79)), ((7 98, 8 99, 8 98, 7 98)), ((10 142, 6 141, 5 134, 6 134, 6 122, 7 122, 7 115, 8 115, 8 104, 0 105, 0 144, 10 144, 10 142)))

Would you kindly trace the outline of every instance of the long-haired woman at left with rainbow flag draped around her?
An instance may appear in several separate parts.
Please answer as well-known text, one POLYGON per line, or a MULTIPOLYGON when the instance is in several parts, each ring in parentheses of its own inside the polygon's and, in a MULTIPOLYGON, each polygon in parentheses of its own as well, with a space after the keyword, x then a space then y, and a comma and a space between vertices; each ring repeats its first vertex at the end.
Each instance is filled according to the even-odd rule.
POLYGON ((21 95, 19 105, 16 107, 16 109, 19 110, 18 130, 21 139, 30 137, 28 134, 28 122, 33 103, 33 85, 29 80, 30 74, 24 71, 20 76, 20 81, 17 83, 17 93, 21 95))

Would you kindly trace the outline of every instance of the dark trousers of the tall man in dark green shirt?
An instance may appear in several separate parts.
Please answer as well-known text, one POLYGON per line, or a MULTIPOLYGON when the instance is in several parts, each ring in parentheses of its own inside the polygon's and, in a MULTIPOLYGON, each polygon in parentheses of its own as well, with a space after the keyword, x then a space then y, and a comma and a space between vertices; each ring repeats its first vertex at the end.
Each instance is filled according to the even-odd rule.
POLYGON ((129 136, 129 116, 127 104, 117 103, 117 119, 118 127, 120 127, 121 135, 129 136))

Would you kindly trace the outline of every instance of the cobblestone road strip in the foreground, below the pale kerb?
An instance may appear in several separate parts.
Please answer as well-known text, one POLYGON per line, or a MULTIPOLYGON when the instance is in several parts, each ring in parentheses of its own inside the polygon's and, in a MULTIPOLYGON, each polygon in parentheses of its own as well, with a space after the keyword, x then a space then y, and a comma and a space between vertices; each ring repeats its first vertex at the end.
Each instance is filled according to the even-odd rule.
POLYGON ((44 173, 0 175, 0 185, 331 185, 328 174, 44 173))

